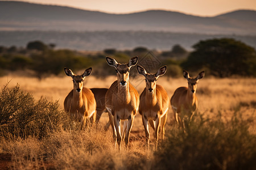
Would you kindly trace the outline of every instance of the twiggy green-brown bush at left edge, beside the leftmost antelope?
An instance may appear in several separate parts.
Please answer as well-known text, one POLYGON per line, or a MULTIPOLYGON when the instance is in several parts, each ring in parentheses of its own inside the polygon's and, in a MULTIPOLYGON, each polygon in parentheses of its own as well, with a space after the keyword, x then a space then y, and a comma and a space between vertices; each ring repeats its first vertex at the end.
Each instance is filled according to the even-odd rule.
POLYGON ((0 92, 0 129, 3 137, 46 137, 63 126, 69 126, 68 114, 59 110, 58 101, 35 101, 16 85, 0 92))

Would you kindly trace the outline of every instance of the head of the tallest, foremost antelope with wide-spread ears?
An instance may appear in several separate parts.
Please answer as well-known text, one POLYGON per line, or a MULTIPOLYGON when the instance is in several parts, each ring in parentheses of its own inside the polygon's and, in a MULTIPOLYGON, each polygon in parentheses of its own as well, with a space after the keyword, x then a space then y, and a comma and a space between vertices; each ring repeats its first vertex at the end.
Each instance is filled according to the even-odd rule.
POLYGON ((118 63, 114 58, 106 57, 107 63, 115 67, 117 72, 117 81, 121 86, 126 86, 129 82, 130 68, 135 66, 138 62, 138 57, 133 57, 130 59, 129 63, 118 63))

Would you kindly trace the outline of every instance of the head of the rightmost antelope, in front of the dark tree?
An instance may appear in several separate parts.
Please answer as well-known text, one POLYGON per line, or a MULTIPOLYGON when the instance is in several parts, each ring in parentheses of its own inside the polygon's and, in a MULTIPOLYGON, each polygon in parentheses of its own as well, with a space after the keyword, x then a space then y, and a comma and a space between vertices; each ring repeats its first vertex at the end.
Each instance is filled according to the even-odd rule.
POLYGON ((199 82, 199 79, 204 77, 204 71, 201 71, 196 78, 191 78, 191 76, 189 76, 188 71, 183 70, 183 76, 188 80, 188 90, 193 94, 196 92, 197 83, 199 82))

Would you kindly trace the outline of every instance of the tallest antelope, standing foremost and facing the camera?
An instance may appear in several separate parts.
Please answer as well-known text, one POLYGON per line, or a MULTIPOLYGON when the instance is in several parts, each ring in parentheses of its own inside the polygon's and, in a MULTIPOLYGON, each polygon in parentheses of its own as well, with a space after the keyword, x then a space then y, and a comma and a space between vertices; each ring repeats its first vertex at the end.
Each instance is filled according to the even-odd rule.
POLYGON ((133 126, 134 116, 139 108, 139 94, 129 82, 130 68, 138 62, 138 57, 130 59, 129 63, 118 63, 115 59, 106 57, 108 65, 115 67, 117 80, 106 92, 106 109, 109 113, 109 121, 113 130, 114 145, 118 143, 121 150, 121 127, 120 120, 127 120, 123 126, 126 147, 129 145, 131 127, 133 126))

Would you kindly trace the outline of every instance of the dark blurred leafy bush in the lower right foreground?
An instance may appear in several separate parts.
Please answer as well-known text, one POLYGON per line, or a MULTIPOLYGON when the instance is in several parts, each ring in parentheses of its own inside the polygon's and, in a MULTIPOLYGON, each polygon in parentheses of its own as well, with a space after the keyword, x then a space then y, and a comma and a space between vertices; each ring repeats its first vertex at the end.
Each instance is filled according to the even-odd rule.
POLYGON ((165 146, 155 152, 156 169, 254 169, 256 135, 250 119, 235 113, 225 122, 197 114, 191 126, 167 132, 165 146))

